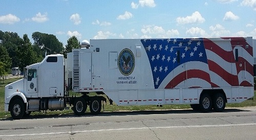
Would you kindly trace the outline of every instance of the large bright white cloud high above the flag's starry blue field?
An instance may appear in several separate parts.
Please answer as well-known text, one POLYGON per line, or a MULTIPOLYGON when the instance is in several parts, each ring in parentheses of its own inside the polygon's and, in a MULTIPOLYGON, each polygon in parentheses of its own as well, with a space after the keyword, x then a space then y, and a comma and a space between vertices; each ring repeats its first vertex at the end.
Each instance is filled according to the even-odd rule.
POLYGON ((203 23, 204 21, 205 19, 198 11, 194 12, 191 16, 176 18, 178 24, 203 23))

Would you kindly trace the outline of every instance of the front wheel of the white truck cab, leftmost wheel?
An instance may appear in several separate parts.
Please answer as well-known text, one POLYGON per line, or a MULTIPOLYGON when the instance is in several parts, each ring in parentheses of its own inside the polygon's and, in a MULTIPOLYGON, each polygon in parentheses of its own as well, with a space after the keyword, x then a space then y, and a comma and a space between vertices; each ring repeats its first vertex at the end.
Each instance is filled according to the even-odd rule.
POLYGON ((10 106, 11 109, 11 116, 13 119, 17 120, 17 119, 22 119, 22 117, 24 116, 24 103, 19 100, 16 99, 11 103, 10 106))

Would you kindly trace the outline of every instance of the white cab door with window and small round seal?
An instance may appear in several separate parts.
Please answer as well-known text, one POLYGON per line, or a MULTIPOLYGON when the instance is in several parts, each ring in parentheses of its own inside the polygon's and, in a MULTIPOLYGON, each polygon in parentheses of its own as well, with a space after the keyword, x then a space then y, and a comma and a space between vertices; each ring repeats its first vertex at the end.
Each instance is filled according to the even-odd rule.
POLYGON ((36 69, 28 69, 27 92, 37 93, 37 70, 36 69))

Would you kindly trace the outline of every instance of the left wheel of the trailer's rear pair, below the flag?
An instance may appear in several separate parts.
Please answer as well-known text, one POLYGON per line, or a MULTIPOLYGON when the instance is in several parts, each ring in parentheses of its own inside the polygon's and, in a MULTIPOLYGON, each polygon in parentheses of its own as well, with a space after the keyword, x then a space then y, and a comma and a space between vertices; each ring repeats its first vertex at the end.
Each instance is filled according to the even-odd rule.
POLYGON ((203 94, 199 100, 199 106, 202 112, 208 113, 212 108, 212 101, 209 94, 203 94))

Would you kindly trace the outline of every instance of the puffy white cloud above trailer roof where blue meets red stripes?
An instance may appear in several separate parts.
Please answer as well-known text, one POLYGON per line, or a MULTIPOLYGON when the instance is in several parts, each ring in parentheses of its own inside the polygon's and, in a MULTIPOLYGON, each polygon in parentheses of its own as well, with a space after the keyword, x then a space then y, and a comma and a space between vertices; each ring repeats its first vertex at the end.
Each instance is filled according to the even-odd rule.
POLYGON ((223 27, 220 24, 216 24, 215 26, 210 26, 209 27, 211 34, 211 37, 223 37, 223 36, 228 36, 230 32, 228 30, 225 30, 225 27, 223 27))

